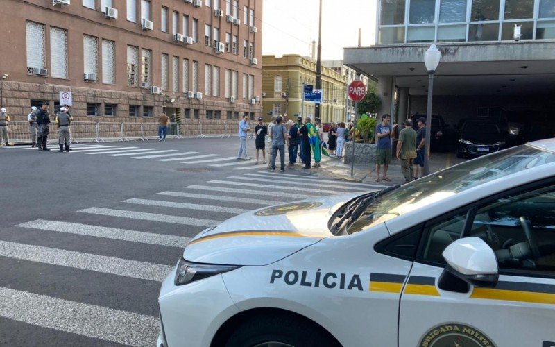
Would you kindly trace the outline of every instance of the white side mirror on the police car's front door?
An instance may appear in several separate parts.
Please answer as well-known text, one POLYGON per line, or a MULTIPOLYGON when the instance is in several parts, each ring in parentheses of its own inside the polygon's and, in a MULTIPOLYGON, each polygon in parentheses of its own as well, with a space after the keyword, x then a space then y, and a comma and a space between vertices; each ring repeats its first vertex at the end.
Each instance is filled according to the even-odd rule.
POLYGON ((443 251, 445 272, 476 287, 495 287, 499 267, 493 249, 479 237, 458 239, 443 251))

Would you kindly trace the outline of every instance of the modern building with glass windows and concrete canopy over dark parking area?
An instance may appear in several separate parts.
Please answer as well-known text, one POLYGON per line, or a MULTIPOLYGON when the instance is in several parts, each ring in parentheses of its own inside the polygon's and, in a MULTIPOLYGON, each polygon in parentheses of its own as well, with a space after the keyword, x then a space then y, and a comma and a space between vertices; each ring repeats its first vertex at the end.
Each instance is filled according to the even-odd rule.
POLYGON ((425 114, 423 61, 433 42, 442 58, 432 113, 450 126, 492 112, 509 121, 511 115, 552 119, 554 1, 379 0, 377 6, 377 44, 345 49, 344 62, 377 76, 381 112, 399 121, 425 114))

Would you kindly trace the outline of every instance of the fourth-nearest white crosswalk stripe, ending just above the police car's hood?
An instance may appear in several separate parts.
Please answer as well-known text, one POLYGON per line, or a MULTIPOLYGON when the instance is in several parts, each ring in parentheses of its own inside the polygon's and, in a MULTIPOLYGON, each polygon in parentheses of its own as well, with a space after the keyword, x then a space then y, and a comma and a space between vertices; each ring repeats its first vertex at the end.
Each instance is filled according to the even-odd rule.
POLYGON ((171 216, 169 214, 157 214, 148 212, 135 212, 126 210, 113 210, 110 208, 85 208, 77 212, 100 214, 102 216, 122 217, 130 219, 141 219, 143 221, 162 221, 164 223, 183 224, 187 226, 217 226, 221 221, 211 219, 199 219, 189 217, 171 216))

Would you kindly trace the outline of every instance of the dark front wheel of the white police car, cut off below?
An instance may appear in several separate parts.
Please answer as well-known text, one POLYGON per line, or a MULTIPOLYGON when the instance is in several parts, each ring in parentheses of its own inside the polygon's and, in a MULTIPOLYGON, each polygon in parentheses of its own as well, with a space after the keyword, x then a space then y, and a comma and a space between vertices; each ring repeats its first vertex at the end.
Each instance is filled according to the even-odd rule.
POLYGON ((254 316, 233 332, 227 347, 331 347, 327 332, 318 325, 287 314, 254 316))

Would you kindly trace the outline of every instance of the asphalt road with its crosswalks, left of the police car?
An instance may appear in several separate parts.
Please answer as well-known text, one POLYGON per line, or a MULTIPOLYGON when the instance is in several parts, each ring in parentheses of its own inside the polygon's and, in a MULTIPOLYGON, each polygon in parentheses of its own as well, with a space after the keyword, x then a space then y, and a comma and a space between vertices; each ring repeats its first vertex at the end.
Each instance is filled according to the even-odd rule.
POLYGON ((373 188, 270 173, 236 159, 237 138, 51 148, 0 149, 2 346, 153 346, 160 284, 190 237, 254 208, 373 188))

